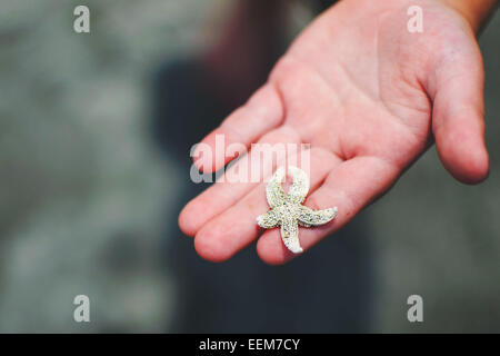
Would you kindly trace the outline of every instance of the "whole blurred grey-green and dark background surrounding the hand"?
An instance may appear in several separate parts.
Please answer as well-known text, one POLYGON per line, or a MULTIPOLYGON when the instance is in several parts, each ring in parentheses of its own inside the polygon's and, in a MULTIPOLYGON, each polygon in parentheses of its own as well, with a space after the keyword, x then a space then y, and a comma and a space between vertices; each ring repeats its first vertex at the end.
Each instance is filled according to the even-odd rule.
POLYGON ((202 261, 179 231, 182 205, 206 188, 189 180, 189 148, 328 4, 3 0, 0 332, 500 332, 498 14, 480 39, 484 184, 454 181, 432 148, 283 267, 254 247, 202 261), (73 31, 78 4, 91 33, 73 31), (91 323, 73 320, 79 294, 91 323), (407 319, 412 294, 423 323, 407 319))

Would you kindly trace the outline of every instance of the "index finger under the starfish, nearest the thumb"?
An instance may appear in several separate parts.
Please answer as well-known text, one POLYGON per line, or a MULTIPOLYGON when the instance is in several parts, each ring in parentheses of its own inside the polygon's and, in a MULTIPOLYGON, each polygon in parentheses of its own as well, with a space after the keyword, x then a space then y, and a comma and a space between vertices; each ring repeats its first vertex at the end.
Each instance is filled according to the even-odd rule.
MULTIPOLYGON (((306 251, 319 240, 349 222, 363 207, 383 194, 398 178, 396 165, 374 157, 354 157, 333 168, 324 182, 307 199, 304 205, 313 209, 337 207, 337 217, 322 226, 299 227, 299 239, 306 251)), ((257 243, 260 258, 270 265, 284 264, 296 254, 281 241, 280 231, 266 231, 257 243)))

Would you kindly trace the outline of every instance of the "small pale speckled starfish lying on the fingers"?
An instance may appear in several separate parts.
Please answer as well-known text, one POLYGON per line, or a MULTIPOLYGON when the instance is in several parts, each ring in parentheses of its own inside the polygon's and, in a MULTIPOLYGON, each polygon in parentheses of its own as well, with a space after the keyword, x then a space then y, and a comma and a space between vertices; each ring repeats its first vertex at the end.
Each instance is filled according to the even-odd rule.
POLYGON ((299 225, 319 226, 331 221, 337 216, 337 207, 313 210, 302 205, 309 191, 307 174, 297 167, 288 167, 293 184, 286 194, 281 187, 284 168, 277 169, 266 187, 266 197, 271 210, 257 217, 257 224, 266 229, 281 226, 281 239, 293 254, 302 253, 299 243, 299 225))

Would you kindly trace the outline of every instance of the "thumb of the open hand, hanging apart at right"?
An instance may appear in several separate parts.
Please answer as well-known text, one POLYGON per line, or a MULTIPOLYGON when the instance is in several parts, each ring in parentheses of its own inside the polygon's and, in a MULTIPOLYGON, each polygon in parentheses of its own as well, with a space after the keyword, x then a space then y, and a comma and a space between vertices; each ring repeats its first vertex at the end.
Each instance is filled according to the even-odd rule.
POLYGON ((434 67, 428 89, 439 157, 458 180, 480 182, 489 171, 481 53, 477 47, 447 52, 434 67))

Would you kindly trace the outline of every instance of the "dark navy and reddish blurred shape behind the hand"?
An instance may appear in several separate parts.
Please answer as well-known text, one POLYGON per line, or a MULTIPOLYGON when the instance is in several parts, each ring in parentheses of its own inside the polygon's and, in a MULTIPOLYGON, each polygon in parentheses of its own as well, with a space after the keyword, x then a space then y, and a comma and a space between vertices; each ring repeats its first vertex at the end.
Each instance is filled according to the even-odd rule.
MULTIPOLYGON (((179 187, 183 189, 179 211, 207 188, 189 178, 191 146, 266 81, 284 50, 282 1, 241 1, 238 21, 230 22, 232 30, 222 33, 221 42, 207 57, 170 62, 157 73, 153 132, 183 169, 186 185, 179 187)), ((227 263, 204 261, 197 255, 192 239, 183 236, 177 225, 169 226, 166 268, 176 278, 179 293, 169 330, 368 332, 373 264, 364 226, 364 220, 357 218, 311 251, 280 267, 261 263, 254 245, 227 263)))

